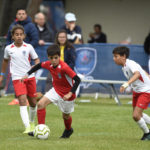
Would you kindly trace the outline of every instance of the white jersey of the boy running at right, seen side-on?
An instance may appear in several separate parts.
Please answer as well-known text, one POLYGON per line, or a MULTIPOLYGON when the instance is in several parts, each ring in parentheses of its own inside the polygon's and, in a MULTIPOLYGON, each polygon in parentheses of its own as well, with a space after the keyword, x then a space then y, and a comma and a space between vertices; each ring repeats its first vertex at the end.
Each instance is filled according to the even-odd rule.
POLYGON ((150 93, 150 78, 138 63, 127 59, 122 70, 128 80, 133 76, 135 71, 138 71, 140 73, 140 78, 131 83, 133 91, 137 93, 150 93))

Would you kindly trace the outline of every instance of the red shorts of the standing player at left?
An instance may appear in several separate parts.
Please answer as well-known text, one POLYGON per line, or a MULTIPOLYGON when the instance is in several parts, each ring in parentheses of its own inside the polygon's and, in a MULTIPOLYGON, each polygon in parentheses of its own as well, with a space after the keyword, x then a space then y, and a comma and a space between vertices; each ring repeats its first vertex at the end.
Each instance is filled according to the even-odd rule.
POLYGON ((27 95, 29 97, 36 97, 35 77, 25 79, 24 82, 13 80, 13 86, 16 96, 27 95))

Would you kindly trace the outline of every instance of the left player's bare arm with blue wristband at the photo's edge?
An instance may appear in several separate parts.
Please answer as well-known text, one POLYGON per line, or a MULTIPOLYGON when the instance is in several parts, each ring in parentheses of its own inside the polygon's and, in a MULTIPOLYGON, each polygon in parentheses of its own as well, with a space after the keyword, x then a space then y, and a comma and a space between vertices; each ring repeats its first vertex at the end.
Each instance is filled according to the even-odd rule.
POLYGON ((6 69, 8 67, 8 62, 9 62, 9 59, 3 59, 2 69, 1 69, 1 73, 0 73, 0 85, 1 85, 1 83, 3 81, 3 79, 4 79, 3 77, 4 77, 5 73, 6 73, 6 69))

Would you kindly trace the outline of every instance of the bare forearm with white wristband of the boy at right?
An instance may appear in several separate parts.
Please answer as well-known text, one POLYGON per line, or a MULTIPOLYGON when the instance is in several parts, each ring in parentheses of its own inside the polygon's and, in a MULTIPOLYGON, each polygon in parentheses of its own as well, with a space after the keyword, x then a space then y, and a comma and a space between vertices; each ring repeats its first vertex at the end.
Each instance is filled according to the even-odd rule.
POLYGON ((123 93, 125 91, 125 89, 134 81, 136 81, 137 79, 139 79, 140 77, 140 72, 139 71, 135 71, 133 76, 130 78, 130 80, 128 80, 127 82, 125 82, 124 84, 121 85, 120 87, 120 92, 123 93))

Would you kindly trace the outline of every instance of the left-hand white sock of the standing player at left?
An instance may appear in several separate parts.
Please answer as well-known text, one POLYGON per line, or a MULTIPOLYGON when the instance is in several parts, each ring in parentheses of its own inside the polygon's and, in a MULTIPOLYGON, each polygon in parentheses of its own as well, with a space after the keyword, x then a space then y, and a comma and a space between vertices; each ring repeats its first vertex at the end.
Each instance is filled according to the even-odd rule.
POLYGON ((23 121, 23 124, 26 127, 29 126, 29 115, 28 115, 28 111, 27 111, 27 106, 20 106, 20 115, 21 115, 21 119, 23 121))

